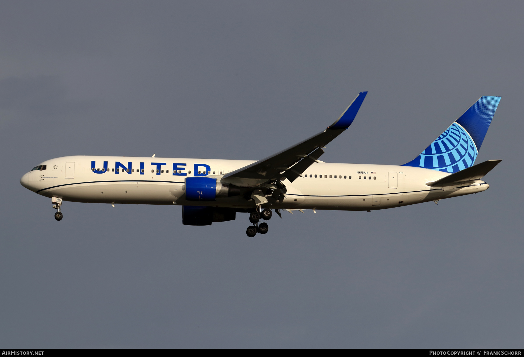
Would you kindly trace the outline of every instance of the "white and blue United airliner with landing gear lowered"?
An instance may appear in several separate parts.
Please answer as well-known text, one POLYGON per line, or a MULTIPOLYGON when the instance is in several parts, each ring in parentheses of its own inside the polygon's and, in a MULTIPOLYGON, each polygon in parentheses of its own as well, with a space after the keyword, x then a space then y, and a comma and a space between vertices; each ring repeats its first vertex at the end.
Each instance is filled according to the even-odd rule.
POLYGON ((403 165, 327 163, 326 145, 351 126, 367 92, 359 93, 325 130, 269 157, 216 160, 67 156, 24 174, 20 183, 62 203, 177 205, 182 224, 207 226, 248 213, 248 237, 268 232, 272 211, 372 211, 485 191, 501 160, 474 165, 501 97, 482 96, 416 158, 403 165))

